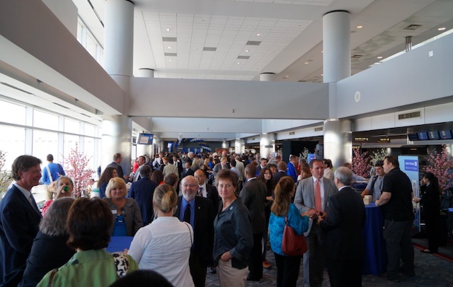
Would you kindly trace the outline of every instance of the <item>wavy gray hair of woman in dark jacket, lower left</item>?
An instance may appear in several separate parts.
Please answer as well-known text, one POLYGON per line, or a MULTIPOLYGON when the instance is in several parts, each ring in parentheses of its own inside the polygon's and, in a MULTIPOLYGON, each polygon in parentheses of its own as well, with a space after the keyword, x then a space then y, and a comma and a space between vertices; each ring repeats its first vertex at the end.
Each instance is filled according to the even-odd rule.
POLYGON ((40 222, 40 231, 49 236, 67 235, 66 219, 69 208, 76 199, 72 197, 62 197, 55 199, 47 209, 44 218, 40 222))

